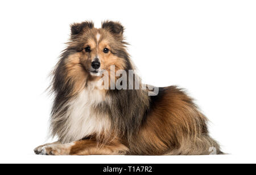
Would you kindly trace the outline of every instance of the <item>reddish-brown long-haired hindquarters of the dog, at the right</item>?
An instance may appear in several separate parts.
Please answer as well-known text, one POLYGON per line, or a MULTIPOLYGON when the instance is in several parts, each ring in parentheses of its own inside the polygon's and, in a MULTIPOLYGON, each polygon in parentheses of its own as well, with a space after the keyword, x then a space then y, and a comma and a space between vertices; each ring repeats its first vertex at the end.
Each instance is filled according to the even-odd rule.
POLYGON ((207 118, 181 89, 164 88, 156 103, 133 138, 131 154, 200 155, 209 154, 209 147, 220 153, 218 144, 208 136, 207 118))

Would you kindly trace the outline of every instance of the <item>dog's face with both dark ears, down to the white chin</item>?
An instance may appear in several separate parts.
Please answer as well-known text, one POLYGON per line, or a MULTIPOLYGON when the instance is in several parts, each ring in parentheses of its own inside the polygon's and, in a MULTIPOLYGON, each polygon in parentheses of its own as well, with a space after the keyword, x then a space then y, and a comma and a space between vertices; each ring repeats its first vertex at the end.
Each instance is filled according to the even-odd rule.
MULTIPOLYGON (((127 69, 127 53, 123 42, 123 27, 117 22, 104 22, 102 28, 94 28, 92 22, 75 23, 71 25, 71 42, 69 47, 75 47, 76 57, 67 61, 76 61, 84 68, 86 74, 99 76, 102 72, 127 69)), ((67 64, 69 64, 67 62, 67 64)))

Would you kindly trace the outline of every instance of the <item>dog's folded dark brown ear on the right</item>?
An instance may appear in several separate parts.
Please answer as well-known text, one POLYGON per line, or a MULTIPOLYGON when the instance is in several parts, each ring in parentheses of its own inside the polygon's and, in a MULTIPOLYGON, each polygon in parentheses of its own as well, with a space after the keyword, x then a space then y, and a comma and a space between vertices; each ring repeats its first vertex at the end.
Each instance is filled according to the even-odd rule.
POLYGON ((109 32, 122 36, 123 35, 123 26, 119 22, 105 21, 101 23, 101 27, 109 30, 109 32))

